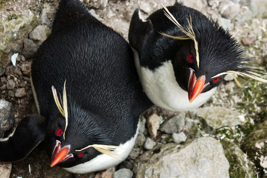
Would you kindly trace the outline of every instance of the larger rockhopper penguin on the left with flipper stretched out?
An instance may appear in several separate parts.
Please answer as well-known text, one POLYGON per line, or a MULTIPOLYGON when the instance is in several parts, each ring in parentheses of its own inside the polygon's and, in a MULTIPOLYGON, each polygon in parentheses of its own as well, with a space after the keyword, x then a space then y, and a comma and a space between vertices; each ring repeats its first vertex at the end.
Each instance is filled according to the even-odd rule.
POLYGON ((125 39, 79 0, 61 0, 31 67, 40 115, 24 118, 0 141, 0 162, 24 158, 42 140, 51 167, 86 173, 122 162, 134 146, 139 115, 152 105, 133 56, 125 39))

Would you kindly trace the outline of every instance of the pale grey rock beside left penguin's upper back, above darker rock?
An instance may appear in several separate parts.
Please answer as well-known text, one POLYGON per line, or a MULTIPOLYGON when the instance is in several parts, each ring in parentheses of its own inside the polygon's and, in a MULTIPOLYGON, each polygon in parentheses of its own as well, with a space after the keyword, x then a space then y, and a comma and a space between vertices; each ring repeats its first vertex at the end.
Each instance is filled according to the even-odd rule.
POLYGON ((37 46, 40 46, 46 38, 46 27, 43 25, 38 25, 29 34, 29 39, 35 41, 37 46))

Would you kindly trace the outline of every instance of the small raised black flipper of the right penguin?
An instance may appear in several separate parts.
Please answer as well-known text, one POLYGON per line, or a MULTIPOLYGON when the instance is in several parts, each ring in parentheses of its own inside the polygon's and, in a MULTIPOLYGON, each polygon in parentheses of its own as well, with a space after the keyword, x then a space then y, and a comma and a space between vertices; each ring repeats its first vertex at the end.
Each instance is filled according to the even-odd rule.
POLYGON ((130 28, 129 28, 129 44, 139 53, 143 50, 148 34, 153 30, 151 20, 143 20, 140 18, 139 9, 134 11, 130 28))

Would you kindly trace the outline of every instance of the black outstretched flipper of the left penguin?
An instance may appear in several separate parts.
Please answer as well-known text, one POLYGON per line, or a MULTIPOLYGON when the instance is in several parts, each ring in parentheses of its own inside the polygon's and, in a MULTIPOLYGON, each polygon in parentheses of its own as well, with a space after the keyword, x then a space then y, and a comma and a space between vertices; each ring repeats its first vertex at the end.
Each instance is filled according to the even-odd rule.
POLYGON ((0 139, 0 162, 25 158, 45 138, 47 119, 38 114, 24 117, 9 137, 0 139))

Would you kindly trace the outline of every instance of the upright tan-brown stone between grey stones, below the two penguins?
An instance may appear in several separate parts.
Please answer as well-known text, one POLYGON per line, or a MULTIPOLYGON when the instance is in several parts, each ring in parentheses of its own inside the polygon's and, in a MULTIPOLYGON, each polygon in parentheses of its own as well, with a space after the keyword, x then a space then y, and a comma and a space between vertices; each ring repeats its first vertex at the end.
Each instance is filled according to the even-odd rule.
POLYGON ((150 115, 147 118, 148 132, 152 138, 156 138, 157 131, 160 128, 160 117, 157 114, 150 115))

